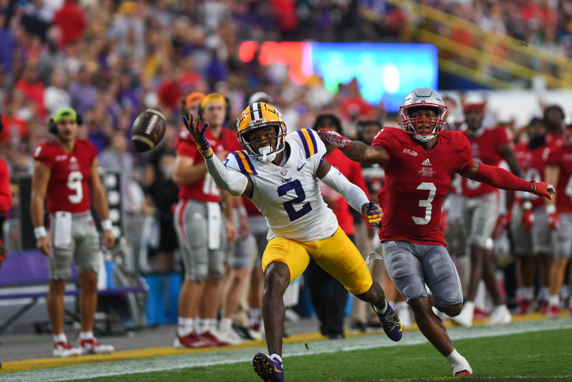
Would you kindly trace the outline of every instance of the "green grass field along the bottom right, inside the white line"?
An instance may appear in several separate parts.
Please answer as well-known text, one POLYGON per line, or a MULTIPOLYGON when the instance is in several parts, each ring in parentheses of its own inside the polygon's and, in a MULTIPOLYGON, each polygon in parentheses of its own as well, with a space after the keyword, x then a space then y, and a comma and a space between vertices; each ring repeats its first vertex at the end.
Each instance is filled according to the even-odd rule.
MULTIPOLYGON (((468 338, 456 340, 455 347, 473 369, 473 376, 463 380, 572 379, 572 329, 468 338)), ((293 356, 284 362, 285 381, 291 382, 439 380, 452 376, 448 361, 430 344, 293 356)), ((89 381, 255 382, 261 379, 250 363, 242 362, 97 377, 89 381)))

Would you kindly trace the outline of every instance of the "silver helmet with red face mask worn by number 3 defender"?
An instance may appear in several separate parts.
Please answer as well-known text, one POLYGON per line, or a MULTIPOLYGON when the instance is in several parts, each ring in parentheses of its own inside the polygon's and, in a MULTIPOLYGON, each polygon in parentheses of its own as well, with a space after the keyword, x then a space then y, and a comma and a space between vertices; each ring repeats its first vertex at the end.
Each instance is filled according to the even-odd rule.
POLYGON ((417 88, 407 94, 399 114, 403 117, 404 130, 421 142, 430 141, 434 136, 444 131, 447 107, 439 93, 430 88, 417 88), (430 109, 435 112, 436 118, 411 117, 411 114, 419 109, 430 109), (425 132, 425 124, 430 124, 428 132, 425 132))

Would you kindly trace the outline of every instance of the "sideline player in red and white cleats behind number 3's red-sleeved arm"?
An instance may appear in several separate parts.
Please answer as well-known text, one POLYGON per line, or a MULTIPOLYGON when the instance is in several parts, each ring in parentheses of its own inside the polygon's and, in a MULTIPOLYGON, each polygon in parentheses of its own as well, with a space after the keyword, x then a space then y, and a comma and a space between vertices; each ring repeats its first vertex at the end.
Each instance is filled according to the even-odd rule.
MULTIPOLYGON (((482 126, 484 104, 464 105, 467 129, 463 132, 472 149, 472 157, 488 166, 498 166, 505 159, 513 174, 522 178, 522 172, 512 149, 512 136, 505 127, 486 129, 482 126)), ((489 324, 506 324, 512 320, 509 309, 503 304, 494 271, 487 256, 487 242, 496 226, 499 211, 498 189, 490 184, 472 179, 462 179, 462 216, 467 243, 471 248, 471 278, 463 311, 453 318, 457 324, 472 326, 475 295, 480 279, 484 280, 495 303, 489 324)))

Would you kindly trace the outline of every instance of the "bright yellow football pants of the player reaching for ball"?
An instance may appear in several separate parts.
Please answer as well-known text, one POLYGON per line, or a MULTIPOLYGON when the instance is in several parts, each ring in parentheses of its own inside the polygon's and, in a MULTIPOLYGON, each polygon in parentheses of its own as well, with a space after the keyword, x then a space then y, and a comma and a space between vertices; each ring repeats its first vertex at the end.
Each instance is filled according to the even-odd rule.
POLYGON ((372 279, 366 262, 340 227, 333 236, 315 242, 300 242, 273 238, 262 257, 262 269, 274 262, 285 263, 290 270, 290 282, 301 275, 310 258, 338 279, 351 294, 362 294, 371 288, 372 279))

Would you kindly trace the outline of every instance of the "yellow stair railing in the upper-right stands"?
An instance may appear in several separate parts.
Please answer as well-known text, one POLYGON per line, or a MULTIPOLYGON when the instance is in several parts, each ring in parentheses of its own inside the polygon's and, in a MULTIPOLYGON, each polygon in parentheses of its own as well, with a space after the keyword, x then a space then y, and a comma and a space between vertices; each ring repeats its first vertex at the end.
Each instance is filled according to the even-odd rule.
POLYGON ((492 88, 520 87, 535 76, 550 88, 572 88, 572 60, 566 56, 412 0, 386 1, 409 17, 402 39, 434 44, 439 67, 447 72, 492 88))

